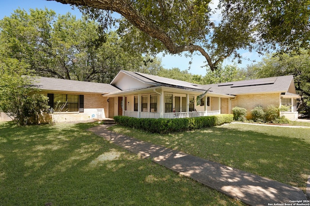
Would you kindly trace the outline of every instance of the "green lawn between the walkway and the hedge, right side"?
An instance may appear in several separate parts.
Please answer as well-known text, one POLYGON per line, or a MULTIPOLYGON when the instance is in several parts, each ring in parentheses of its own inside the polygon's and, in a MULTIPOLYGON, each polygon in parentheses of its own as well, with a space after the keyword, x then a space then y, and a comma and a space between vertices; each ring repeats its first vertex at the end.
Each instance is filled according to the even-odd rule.
POLYGON ((310 175, 310 128, 225 124, 167 135, 118 125, 113 130, 306 191, 310 175))

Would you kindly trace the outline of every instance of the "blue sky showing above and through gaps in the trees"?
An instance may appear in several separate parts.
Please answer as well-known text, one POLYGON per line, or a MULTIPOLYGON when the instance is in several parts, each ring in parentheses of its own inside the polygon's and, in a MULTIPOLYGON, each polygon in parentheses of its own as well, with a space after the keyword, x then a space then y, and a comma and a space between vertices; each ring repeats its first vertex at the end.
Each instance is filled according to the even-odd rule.
MULTIPOLYGON (((215 0, 218 1, 218 0, 215 0)), ((27 12, 29 9, 51 9, 54 10, 57 14, 64 15, 70 12, 73 15, 76 15, 77 18, 80 18, 82 14, 78 11, 78 9, 72 9, 72 6, 68 4, 62 4, 56 1, 47 1, 47 0, 0 0, 0 19, 4 16, 10 16, 16 9, 25 9, 27 12)), ((212 15, 212 18, 216 21, 219 14, 212 15)), ((260 57, 255 52, 248 52, 248 51, 240 51, 240 54, 244 59, 242 60, 242 64, 237 64, 238 67, 243 68, 246 67, 248 64, 253 63, 253 60, 259 61, 262 57, 260 57)), ((174 67, 179 68, 181 71, 188 70, 191 74, 200 74, 204 76, 206 74, 206 70, 209 67, 203 67, 206 65, 205 58, 202 55, 194 55, 193 58, 186 58, 184 55, 165 55, 164 57, 162 54, 158 54, 156 57, 162 60, 162 65, 165 69, 171 69, 174 67), (190 65, 189 62, 192 62, 190 65)), ((231 58, 225 59, 223 61, 224 65, 233 64, 233 60, 231 58)))

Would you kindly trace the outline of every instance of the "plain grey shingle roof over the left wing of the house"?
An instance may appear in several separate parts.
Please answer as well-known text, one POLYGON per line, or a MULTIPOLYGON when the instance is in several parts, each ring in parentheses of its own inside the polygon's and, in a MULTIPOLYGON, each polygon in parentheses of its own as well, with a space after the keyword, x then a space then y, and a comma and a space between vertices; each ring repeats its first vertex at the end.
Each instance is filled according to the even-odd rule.
POLYGON ((37 88, 50 91, 69 91, 81 93, 86 92, 100 94, 120 91, 120 89, 115 88, 110 84, 83 82, 49 77, 36 77, 33 82, 34 85, 37 86, 37 88))

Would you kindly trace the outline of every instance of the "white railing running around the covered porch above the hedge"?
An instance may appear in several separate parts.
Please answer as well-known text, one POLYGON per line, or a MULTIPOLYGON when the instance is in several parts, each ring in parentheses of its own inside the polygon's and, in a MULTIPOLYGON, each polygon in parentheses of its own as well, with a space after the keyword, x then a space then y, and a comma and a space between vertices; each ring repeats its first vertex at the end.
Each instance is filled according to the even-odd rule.
MULTIPOLYGON (((211 115, 218 115, 220 111, 203 111, 203 112, 170 112, 164 113, 163 118, 197 118, 211 115)), ((124 111, 124 116, 132 118, 160 118, 159 113, 155 112, 135 112, 124 111)))

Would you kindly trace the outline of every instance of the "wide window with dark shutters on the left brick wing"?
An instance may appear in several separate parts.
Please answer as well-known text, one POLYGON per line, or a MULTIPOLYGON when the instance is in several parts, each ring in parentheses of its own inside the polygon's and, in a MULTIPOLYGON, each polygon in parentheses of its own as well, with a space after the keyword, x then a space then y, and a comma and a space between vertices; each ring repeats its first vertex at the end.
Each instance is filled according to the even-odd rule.
POLYGON ((53 109, 67 103, 60 112, 84 112, 84 95, 47 94, 47 97, 49 98, 48 105, 53 109))

